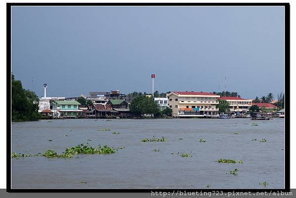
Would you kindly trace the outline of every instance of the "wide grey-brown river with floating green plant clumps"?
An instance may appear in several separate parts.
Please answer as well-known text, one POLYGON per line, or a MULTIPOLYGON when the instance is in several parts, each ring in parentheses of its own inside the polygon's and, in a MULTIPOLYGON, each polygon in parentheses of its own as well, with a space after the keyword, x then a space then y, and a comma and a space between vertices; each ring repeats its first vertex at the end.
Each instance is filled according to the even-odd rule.
POLYGON ((93 147, 101 144, 124 148, 110 155, 77 155, 78 158, 67 159, 12 158, 11 188, 284 188, 284 119, 255 122, 258 126, 253 126, 254 120, 250 119, 13 122, 11 145, 16 153, 62 153, 67 147, 87 142, 93 147), (98 130, 106 128, 111 130, 98 130), (114 131, 119 134, 112 134, 114 131), (163 136, 166 141, 141 142, 153 136, 163 136), (206 142, 199 142, 200 139, 206 142), (260 142, 261 139, 266 142, 260 142), (183 158, 181 154, 192 157, 183 158), (220 158, 243 163, 218 163, 220 158), (235 168, 236 176, 229 173, 235 168), (267 186, 259 184, 262 182, 267 182, 267 186))

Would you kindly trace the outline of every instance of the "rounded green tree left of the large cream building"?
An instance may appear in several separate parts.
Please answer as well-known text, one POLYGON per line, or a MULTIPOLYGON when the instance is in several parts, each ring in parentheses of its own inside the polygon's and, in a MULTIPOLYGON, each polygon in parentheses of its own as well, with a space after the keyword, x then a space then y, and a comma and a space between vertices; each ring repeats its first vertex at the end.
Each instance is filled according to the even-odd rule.
POLYGON ((154 103, 153 98, 146 95, 136 97, 130 104, 130 111, 138 117, 144 114, 159 114, 157 104, 154 103))

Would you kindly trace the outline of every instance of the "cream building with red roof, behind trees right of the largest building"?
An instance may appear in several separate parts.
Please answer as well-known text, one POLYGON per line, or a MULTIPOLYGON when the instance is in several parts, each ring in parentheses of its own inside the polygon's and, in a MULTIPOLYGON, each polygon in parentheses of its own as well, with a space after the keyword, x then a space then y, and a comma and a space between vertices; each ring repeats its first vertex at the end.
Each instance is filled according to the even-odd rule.
POLYGON ((247 100, 240 97, 222 96, 219 99, 226 100, 229 103, 229 110, 231 112, 247 113, 252 106, 252 100, 247 100))

